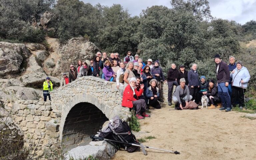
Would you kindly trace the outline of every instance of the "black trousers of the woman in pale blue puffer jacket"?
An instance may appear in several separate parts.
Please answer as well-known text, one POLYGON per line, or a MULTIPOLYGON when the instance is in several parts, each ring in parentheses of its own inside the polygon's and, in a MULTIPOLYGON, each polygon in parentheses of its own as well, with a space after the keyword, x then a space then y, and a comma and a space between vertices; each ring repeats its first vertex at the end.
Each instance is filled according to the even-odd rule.
POLYGON ((231 104, 233 106, 236 105, 237 101, 238 101, 239 107, 244 106, 244 92, 245 91, 246 91, 245 88, 243 91, 243 88, 232 86, 231 104))

